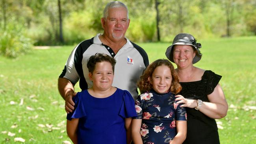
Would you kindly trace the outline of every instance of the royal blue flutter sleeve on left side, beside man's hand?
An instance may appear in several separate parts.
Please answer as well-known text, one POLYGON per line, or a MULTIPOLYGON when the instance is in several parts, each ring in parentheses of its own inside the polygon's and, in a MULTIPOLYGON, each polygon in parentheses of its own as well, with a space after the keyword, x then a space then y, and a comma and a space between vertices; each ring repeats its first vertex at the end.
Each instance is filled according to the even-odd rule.
POLYGON ((72 113, 67 114, 67 119, 72 120, 72 118, 82 118, 86 116, 85 106, 83 103, 83 98, 85 96, 82 95, 83 92, 78 92, 76 96, 72 98, 75 103, 74 111, 72 113))

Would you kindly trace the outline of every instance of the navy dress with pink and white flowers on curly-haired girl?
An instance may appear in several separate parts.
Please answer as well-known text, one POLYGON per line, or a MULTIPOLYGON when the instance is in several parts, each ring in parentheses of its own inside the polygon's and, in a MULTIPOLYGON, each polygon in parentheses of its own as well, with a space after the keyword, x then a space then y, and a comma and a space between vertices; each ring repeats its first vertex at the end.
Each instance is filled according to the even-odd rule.
POLYGON ((142 119, 143 144, 169 144, 176 136, 176 120, 186 120, 186 109, 175 102, 171 92, 158 94, 154 90, 138 96, 135 102, 137 117, 142 119))

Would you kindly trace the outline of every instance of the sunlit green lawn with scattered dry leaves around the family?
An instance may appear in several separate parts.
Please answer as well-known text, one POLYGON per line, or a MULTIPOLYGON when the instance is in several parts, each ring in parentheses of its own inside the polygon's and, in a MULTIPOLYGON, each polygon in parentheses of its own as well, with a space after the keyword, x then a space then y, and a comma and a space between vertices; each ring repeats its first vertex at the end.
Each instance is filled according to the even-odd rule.
MULTIPOLYGON (((218 120, 223 127, 219 129, 221 144, 255 143, 256 110, 244 106, 256 105, 256 37, 200 42, 203 57, 195 66, 223 76, 220 84, 231 106, 227 116, 218 120)), ((139 45, 152 62, 166 58, 165 50, 171 43, 139 45)), ((15 143, 15 137, 24 138, 25 143, 60 144, 69 140, 65 131, 64 101, 58 93, 57 80, 73 48, 33 50, 16 59, 0 56, 0 143, 15 143), (19 105, 22 99, 24 102, 19 105), (11 101, 16 104, 11 105, 11 101), (16 128, 11 128, 15 125, 16 128), (15 136, 8 136, 4 131, 15 133, 15 136)), ((76 91, 80 91, 78 85, 76 91)))

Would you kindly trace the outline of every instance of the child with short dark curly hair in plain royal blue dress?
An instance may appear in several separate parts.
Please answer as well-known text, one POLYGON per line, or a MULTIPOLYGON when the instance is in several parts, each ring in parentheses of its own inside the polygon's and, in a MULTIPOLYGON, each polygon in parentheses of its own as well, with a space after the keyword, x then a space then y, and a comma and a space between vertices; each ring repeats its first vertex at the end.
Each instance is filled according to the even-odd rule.
POLYGON ((112 86, 115 63, 106 54, 88 59, 93 87, 74 96, 75 110, 67 114, 67 134, 74 144, 130 143, 131 117, 137 114, 131 94, 112 86))

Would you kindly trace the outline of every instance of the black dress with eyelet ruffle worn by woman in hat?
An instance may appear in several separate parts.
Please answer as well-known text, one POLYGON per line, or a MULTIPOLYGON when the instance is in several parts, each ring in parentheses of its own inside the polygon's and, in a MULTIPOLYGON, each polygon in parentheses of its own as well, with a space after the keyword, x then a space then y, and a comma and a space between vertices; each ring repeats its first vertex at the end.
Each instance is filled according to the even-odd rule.
MULTIPOLYGON (((221 77, 211 70, 206 70, 200 81, 180 82, 182 90, 179 94, 188 99, 209 102, 207 95, 213 92, 221 77)), ((219 144, 215 120, 194 108, 186 107, 186 111, 187 138, 183 144, 219 144)))

